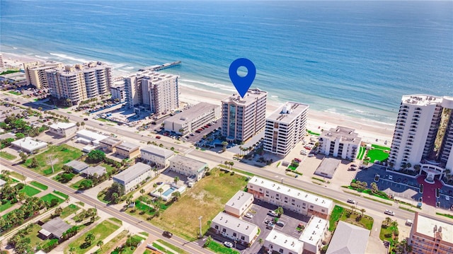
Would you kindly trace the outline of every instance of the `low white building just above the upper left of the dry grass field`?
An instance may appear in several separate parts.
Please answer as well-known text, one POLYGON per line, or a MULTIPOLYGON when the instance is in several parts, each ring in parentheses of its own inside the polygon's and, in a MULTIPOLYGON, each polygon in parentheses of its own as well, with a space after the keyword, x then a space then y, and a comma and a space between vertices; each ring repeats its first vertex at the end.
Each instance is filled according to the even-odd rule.
POLYGON ((205 174, 206 167, 207 163, 205 162, 176 154, 176 156, 170 158, 170 166, 168 168, 171 171, 187 176, 188 180, 198 181, 205 174))

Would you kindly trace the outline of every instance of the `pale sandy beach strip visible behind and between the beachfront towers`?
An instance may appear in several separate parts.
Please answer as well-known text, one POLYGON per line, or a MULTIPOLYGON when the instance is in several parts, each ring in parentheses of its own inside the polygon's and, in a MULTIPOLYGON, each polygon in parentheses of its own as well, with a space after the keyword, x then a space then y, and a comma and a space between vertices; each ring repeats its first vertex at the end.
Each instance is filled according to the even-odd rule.
MULTIPOLYGON (((3 54, 3 60, 6 62, 5 67, 20 67, 23 68, 23 62, 30 61, 52 61, 52 59, 38 59, 34 56, 19 55, 8 52, 0 52, 3 54)), ((108 63, 112 64, 112 63, 108 63)), ((125 76, 125 72, 112 69, 114 78, 116 76, 125 76)), ((133 71, 132 71, 133 72, 133 71)), ((130 72, 130 73, 132 73, 130 72)), ((222 90, 221 90, 222 91, 222 90)), ((195 104, 200 102, 208 102, 216 105, 221 105, 221 100, 229 96, 230 93, 222 93, 219 91, 207 91, 205 89, 194 88, 193 86, 185 86, 180 83, 180 100, 184 103, 195 104)), ((303 102, 301 102, 303 103, 303 102)), ((268 96, 266 107, 266 115, 270 115, 282 105, 268 96)), ((332 112, 323 112, 309 109, 309 120, 307 129, 312 132, 320 133, 322 129, 335 128, 338 125, 350 127, 362 137, 362 142, 390 146, 393 137, 394 125, 384 122, 377 122, 359 117, 350 117, 346 115, 335 114, 332 112), (378 141, 376 141, 378 139, 378 141), (385 145, 384 142, 388 143, 385 145)))

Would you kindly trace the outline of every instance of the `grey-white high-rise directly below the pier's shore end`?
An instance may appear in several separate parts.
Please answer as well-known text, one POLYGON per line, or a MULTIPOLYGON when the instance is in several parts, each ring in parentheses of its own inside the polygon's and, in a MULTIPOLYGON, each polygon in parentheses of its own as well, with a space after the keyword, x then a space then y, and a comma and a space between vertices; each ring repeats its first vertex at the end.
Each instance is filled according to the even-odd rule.
POLYGON ((179 76, 141 71, 125 78, 125 95, 129 108, 144 105, 156 115, 179 108, 179 76))

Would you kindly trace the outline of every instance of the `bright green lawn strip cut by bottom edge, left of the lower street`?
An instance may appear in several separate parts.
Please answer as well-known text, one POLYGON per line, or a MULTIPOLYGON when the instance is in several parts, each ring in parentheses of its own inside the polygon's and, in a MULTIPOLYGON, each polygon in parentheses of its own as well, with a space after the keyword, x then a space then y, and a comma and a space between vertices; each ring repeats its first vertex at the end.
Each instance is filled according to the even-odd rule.
MULTIPOLYGON (((80 236, 77 238, 75 241, 72 243, 69 243, 69 246, 67 246, 66 249, 64 249, 64 253, 69 253, 69 248, 74 247, 76 251, 74 253, 86 253, 88 250, 93 248, 93 246, 96 246, 97 241, 105 239, 107 236, 109 236, 111 233, 115 232, 115 230, 119 229, 120 227, 111 223, 110 221, 102 221, 101 224, 98 224, 95 226, 91 231, 88 231, 84 233, 84 235, 80 236), (88 233, 93 233, 93 235, 96 237, 91 246, 87 246, 85 243, 85 237, 88 235, 88 233)), ((103 247, 104 248, 104 247, 103 247)))

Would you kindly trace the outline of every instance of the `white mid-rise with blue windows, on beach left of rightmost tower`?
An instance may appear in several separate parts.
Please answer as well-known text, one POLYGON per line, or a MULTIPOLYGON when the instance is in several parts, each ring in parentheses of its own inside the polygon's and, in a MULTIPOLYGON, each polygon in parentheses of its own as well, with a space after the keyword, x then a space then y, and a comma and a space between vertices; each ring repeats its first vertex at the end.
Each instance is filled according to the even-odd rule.
POLYGON ((323 130, 319 136, 319 151, 321 154, 355 161, 361 141, 355 129, 338 126, 323 130))

